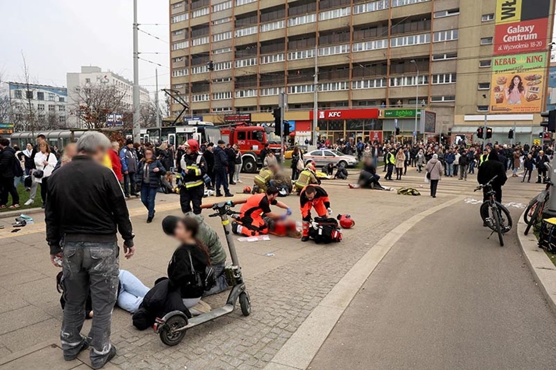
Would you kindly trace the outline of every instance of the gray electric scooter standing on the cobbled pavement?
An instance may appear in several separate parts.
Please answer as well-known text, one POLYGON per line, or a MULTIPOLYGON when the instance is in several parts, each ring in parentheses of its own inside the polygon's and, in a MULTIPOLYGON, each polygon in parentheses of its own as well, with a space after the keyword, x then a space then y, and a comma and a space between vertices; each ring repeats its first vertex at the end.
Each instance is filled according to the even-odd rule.
POLYGON ((244 316, 249 316, 251 313, 251 300, 249 297, 249 292, 245 287, 245 282, 241 276, 241 267, 239 264, 239 259, 237 258, 236 247, 234 245, 234 237, 232 234, 232 228, 230 225, 230 219, 228 216, 236 214, 232 207, 236 204, 245 203, 246 200, 239 201, 225 201, 215 204, 202 205, 203 209, 213 209, 216 212, 209 217, 220 216, 222 221, 222 226, 224 227, 224 234, 226 235, 226 242, 230 250, 230 256, 232 259, 232 266, 226 266, 226 280, 229 285, 232 286, 230 295, 226 301, 226 304, 222 307, 216 308, 207 313, 192 317, 187 319, 185 313, 181 311, 172 311, 167 313, 162 318, 156 318, 155 325, 153 329, 156 333, 160 335, 160 340, 167 346, 175 346, 180 343, 185 332, 192 327, 201 325, 207 321, 214 320, 225 315, 228 315, 236 306, 236 301, 240 301, 241 313, 244 316))

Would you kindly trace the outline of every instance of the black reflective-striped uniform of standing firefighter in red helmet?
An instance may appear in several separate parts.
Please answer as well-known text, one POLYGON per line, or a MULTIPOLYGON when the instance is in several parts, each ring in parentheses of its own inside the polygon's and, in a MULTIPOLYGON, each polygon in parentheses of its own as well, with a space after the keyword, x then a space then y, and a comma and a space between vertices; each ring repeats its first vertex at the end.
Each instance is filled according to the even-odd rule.
POLYGON ((205 195, 205 181, 207 164, 205 158, 198 152, 183 154, 181 158, 181 189, 180 204, 183 213, 191 212, 198 215, 201 213, 201 203, 205 195))

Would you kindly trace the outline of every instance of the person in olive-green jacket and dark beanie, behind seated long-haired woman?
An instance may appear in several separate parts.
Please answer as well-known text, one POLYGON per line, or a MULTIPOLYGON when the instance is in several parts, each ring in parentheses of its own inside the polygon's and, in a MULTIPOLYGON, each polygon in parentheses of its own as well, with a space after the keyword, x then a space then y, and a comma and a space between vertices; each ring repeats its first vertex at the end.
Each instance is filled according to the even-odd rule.
MULTIPOLYGON (((227 290, 229 286, 226 282, 226 276, 224 273, 224 268, 226 266, 226 251, 224 250, 224 247, 222 247, 218 234, 216 234, 216 231, 205 222, 203 216, 196 215, 193 212, 187 212, 185 216, 191 217, 197 221, 199 225, 197 240, 209 249, 210 263, 212 269, 214 270, 216 285, 210 290, 205 291, 203 296, 210 296, 227 290)), ((162 229, 166 232, 166 234, 173 236, 180 220, 180 217, 177 216, 166 216, 162 222, 162 229)))

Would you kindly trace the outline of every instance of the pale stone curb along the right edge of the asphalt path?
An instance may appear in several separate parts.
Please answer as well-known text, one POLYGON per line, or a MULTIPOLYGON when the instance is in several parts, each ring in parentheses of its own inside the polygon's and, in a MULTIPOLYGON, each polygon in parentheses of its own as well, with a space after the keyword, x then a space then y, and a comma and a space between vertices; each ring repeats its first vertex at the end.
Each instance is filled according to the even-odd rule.
MULTIPOLYGON (((523 211, 524 213, 525 211, 523 211)), ((533 232, 530 232, 529 235, 523 234, 527 227, 523 221, 523 214, 520 215, 518 221, 519 246, 540 291, 543 292, 550 308, 556 313, 556 266, 550 261, 544 250, 538 247, 538 241, 533 232)))

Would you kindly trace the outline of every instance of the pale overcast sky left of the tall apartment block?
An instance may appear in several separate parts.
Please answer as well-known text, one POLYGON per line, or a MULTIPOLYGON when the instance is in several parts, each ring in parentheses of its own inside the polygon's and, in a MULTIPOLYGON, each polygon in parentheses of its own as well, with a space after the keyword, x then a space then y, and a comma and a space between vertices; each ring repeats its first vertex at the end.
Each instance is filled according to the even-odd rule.
MULTIPOLYGON (((0 71, 5 80, 22 80, 22 53, 33 83, 65 87, 66 73, 80 72, 81 65, 133 79, 132 0, 0 0, 0 9, 0 71)), ((141 57, 163 65, 139 62, 140 83, 154 92, 155 68, 158 88, 170 83, 168 1, 138 0, 138 23, 163 40, 139 33, 141 57), (162 54, 147 54, 152 52, 162 54)))

